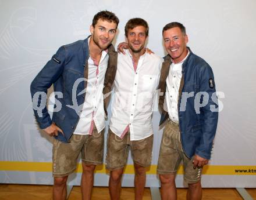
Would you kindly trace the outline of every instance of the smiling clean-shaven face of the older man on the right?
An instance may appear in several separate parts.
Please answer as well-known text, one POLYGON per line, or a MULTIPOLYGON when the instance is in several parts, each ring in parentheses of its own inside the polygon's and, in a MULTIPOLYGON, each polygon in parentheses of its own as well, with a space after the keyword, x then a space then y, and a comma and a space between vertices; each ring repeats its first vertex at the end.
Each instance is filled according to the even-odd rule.
POLYGON ((179 63, 187 56, 187 35, 182 34, 179 27, 170 28, 163 31, 163 41, 165 49, 172 57, 174 63, 179 63))

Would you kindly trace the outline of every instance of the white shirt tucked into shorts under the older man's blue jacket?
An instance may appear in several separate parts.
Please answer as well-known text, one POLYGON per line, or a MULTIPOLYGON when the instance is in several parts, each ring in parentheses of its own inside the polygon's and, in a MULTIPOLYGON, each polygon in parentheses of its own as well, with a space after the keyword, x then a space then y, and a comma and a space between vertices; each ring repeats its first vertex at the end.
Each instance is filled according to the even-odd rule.
MULTIPOLYGON (((189 53, 187 53, 189 56, 189 53)), ((182 64, 186 60, 187 56, 180 61, 180 63, 172 63, 170 65, 169 75, 166 79, 166 104, 168 108, 169 118, 176 123, 179 123, 178 114, 178 96, 180 81, 182 79, 182 64)))

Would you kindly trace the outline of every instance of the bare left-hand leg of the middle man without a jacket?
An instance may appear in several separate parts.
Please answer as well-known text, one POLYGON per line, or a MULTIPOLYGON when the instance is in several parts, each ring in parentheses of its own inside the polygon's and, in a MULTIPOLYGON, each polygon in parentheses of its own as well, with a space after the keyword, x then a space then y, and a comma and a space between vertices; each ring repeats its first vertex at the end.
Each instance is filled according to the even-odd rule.
POLYGON ((111 200, 120 199, 122 174, 123 174, 123 168, 113 170, 110 172, 108 190, 109 190, 111 200))

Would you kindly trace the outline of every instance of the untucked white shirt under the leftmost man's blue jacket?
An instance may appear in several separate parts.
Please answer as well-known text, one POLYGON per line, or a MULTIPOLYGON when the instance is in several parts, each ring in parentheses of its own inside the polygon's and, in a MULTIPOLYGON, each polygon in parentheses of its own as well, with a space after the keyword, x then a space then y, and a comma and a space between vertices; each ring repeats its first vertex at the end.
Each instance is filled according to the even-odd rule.
MULTIPOLYGON (((90 42, 90 39, 91 38, 88 39, 88 43, 90 42)), ((102 90, 107 67, 108 53, 105 50, 102 51, 101 60, 98 64, 98 75, 97 66, 91 56, 89 57, 86 97, 74 134, 89 134, 92 121, 94 121, 98 133, 105 128, 105 111, 102 90)))

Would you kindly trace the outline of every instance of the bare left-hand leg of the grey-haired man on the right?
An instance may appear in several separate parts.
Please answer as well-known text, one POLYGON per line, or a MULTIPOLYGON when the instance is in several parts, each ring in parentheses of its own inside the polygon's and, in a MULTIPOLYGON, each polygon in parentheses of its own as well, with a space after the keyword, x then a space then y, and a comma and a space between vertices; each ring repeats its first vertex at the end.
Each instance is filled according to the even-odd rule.
POLYGON ((161 199, 176 200, 175 174, 159 174, 159 179, 161 181, 161 199))

